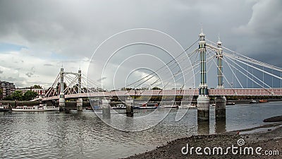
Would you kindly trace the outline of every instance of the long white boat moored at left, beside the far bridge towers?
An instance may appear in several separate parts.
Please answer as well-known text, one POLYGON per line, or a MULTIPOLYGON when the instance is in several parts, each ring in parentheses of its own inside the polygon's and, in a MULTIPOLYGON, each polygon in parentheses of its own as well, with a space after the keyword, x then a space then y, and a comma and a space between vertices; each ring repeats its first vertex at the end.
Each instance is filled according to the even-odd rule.
POLYGON ((48 106, 47 104, 39 104, 34 106, 18 106, 12 108, 13 112, 47 112, 47 111, 59 111, 59 107, 48 106))

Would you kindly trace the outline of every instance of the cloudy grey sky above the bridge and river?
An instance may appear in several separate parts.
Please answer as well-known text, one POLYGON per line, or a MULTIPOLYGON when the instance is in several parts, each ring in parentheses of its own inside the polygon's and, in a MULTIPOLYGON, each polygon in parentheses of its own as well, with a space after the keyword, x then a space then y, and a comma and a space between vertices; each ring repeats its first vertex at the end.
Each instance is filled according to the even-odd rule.
MULTIPOLYGON (((111 71, 101 75, 107 58, 93 54, 109 37, 135 28, 159 30, 183 48, 195 42, 203 28, 209 40, 216 42, 220 35, 223 46, 282 67, 281 8, 281 0, 1 0, 0 80, 13 82, 17 88, 35 84, 48 88, 63 66, 66 71, 82 69, 85 74, 90 70, 93 81, 107 85, 113 81, 111 71), (91 61, 97 63, 91 65, 91 61)), ((128 52, 146 54, 149 49, 141 50, 135 47, 128 52)), ((126 59, 127 54, 123 50, 124 56, 117 56, 116 61, 126 59)), ((169 61, 169 56, 156 56, 160 58, 156 66, 169 61)), ((157 68, 150 66, 154 64, 150 57, 142 58, 129 62, 123 67, 127 71, 120 69, 118 74, 128 77, 137 61, 147 62, 147 68, 138 66, 143 69, 131 73, 131 81, 150 73, 148 68, 157 68)), ((105 87, 112 89, 110 84, 105 87)))

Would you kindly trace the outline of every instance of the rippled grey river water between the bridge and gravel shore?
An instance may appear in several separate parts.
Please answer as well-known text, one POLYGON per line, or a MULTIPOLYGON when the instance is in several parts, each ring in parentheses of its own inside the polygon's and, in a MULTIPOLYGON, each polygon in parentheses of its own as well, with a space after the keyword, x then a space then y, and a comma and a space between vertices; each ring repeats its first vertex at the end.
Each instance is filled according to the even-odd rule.
POLYGON ((209 124, 197 123, 196 109, 176 121, 177 111, 136 132, 114 129, 94 112, 0 112, 0 158, 123 158, 185 136, 261 126, 263 119, 282 114, 282 102, 226 106, 225 122, 215 122, 211 107, 209 124))

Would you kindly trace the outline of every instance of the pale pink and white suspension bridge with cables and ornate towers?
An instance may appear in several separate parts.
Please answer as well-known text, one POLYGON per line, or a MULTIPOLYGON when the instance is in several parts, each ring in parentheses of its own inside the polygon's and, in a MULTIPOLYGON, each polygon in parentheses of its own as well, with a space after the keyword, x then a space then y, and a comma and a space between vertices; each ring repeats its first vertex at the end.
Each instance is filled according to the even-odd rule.
MULTIPOLYGON (((209 95, 217 96, 215 99, 216 118, 225 117, 226 95, 282 96, 281 75, 282 69, 280 67, 266 64, 223 47, 220 39, 217 42, 207 40, 201 30, 199 39, 180 52, 176 58, 168 61, 154 73, 149 73, 123 87, 130 88, 129 90, 122 88, 111 91, 100 90, 101 83, 87 78, 80 70, 74 73, 61 69, 43 100, 59 100, 59 106, 65 107, 66 99, 77 99, 78 110, 82 110, 82 98, 198 95, 198 119, 209 120, 209 95), (192 49, 196 44, 198 44, 196 49, 192 49), (180 63, 185 62, 184 56, 189 57, 191 64, 183 69, 177 69, 180 63), (165 71, 167 68, 175 70, 169 78, 153 80, 157 73, 165 71), (200 79, 198 88, 188 88, 183 83, 180 89, 168 89, 168 83, 173 78, 180 74, 188 75, 192 71, 194 71, 195 79, 200 79), (214 88, 208 88, 207 79, 210 76, 216 78, 216 87, 214 88), (161 90, 141 90, 140 86, 144 83, 150 83, 150 87, 160 86, 161 83, 167 83, 167 85, 163 86, 161 90)), ((179 78, 176 79, 176 81, 178 80, 179 78)))

